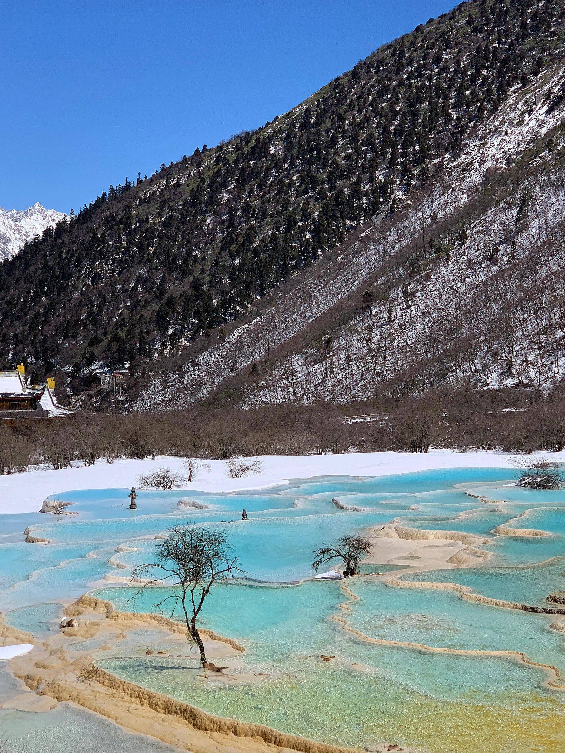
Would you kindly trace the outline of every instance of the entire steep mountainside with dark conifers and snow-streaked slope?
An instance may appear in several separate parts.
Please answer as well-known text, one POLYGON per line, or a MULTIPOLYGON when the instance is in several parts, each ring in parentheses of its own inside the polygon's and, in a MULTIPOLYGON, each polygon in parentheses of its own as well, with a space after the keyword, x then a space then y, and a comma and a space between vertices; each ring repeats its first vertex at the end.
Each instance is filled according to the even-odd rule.
MULTIPOLYGON (((472 290, 523 291, 539 243, 538 276, 564 271, 563 17, 565 0, 463 3, 273 123, 110 187, 0 265, 3 365, 145 365, 137 407, 500 381, 498 335, 485 353, 469 313, 498 309, 472 290)), ((559 317, 534 309, 521 331, 545 363, 559 317)))

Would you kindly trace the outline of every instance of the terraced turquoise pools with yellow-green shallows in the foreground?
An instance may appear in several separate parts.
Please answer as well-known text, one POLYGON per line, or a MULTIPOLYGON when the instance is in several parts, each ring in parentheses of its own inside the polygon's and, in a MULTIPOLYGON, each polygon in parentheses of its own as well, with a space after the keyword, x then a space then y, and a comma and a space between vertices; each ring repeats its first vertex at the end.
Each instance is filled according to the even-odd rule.
MULTIPOLYGON (((321 742, 371 748, 386 740, 438 753, 563 751, 565 614, 488 599, 558 608, 546 597, 565 591, 565 492, 517 489, 511 476, 454 468, 323 477, 261 492, 139 492, 136 511, 127 509, 127 489, 68 492, 60 496, 74 503, 75 515, 0 515, 0 605, 9 624, 38 642, 58 631, 63 603, 89 589, 130 611, 133 589, 124 580, 151 559, 154 536, 174 523, 212 523, 249 573, 216 587, 203 615, 203 626, 246 649, 230 668, 235 681, 209 682, 182 659, 141 655, 133 639, 105 651, 94 639, 86 644, 98 666, 212 714, 321 742), (187 496, 209 508, 179 508, 187 496), (334 497, 362 511, 342 511, 334 497), (490 556, 426 572, 420 554, 408 553, 394 565, 365 566, 385 575, 345 587, 304 581, 313 575, 313 547, 391 520, 415 537, 418 530, 481 537, 478 550, 490 556), (499 526, 546 535, 496 535, 499 526), (28 527, 50 543, 24 543, 28 527), (449 584, 487 599, 469 601, 449 584), (322 654, 335 658, 324 662, 322 654)), ((145 591, 135 608, 151 611, 164 595, 145 591)), ((48 735, 32 734, 38 721, 18 713, 0 709, 0 728, 25 740, 29 753, 51 750, 48 735)), ((63 724, 55 716, 65 713, 47 713, 41 729, 50 714, 63 724)), ((105 750, 127 749, 120 745, 108 738, 105 750)))

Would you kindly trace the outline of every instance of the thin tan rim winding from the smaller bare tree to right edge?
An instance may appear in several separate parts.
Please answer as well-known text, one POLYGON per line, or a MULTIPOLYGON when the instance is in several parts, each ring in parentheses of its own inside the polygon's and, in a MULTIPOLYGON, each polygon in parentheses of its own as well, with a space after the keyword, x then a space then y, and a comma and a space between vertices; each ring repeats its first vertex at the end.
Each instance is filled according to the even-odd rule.
MULTIPOLYGON (((457 586, 457 584, 452 585, 457 586)), ((350 604, 352 602, 359 601, 360 598, 356 595, 356 593, 353 593, 353 591, 351 591, 343 582, 341 584, 341 590, 344 591, 349 599, 347 600, 347 602, 342 602, 339 605, 339 608, 341 609, 341 611, 351 612, 352 609, 350 607, 350 604)), ((390 648, 409 648, 414 649, 415 651, 423 651, 426 654, 451 654, 454 656, 463 657, 490 657, 518 661, 527 664, 528 666, 536 667, 537 669, 543 669, 548 675, 548 678, 545 681, 548 687, 551 687, 557 691, 565 691, 565 684, 560 682, 562 678, 561 672, 559 669, 557 669, 556 666, 553 666, 552 664, 543 664, 536 662, 533 659, 530 659, 530 657, 527 657, 527 655, 524 654, 523 651, 512 651, 511 649, 499 651, 484 651, 478 648, 447 648, 444 646, 429 646, 425 643, 392 641, 384 638, 372 638, 371 636, 362 633, 360 630, 356 630, 356 628, 351 627, 349 620, 347 620, 345 617, 342 617, 340 614, 332 614, 331 619, 335 620, 337 623, 340 623, 341 629, 345 630, 347 633, 351 633, 351 635, 359 638, 365 643, 372 643, 377 646, 389 646, 390 648)))

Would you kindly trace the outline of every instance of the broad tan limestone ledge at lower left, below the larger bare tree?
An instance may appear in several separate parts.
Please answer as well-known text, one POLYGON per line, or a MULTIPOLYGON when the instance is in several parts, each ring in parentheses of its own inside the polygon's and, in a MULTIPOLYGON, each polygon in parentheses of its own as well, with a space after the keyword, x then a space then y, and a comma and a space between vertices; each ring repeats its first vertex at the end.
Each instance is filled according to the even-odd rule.
MULTIPOLYGON (((129 627, 151 626, 157 623, 170 633, 184 634, 185 628, 174 620, 155 614, 130 614, 115 610, 110 602, 85 595, 66 608, 66 614, 84 617, 78 628, 65 628, 64 639, 90 637, 113 632, 115 638, 124 637, 123 623, 129 627), (101 619, 93 619, 93 613, 101 619), (110 623, 107 622, 110 620, 110 623), (117 623, 113 626, 113 623, 117 623), (121 632, 120 632, 121 631, 121 632), (116 634, 118 633, 118 634, 116 634)), ((9 639, 14 642, 14 631, 9 639)), ((243 647, 231 639, 218 636, 211 630, 201 630, 203 637, 223 642, 236 651, 243 647)), ((1 635, 1 633, 0 633, 1 635)), ((26 638, 22 634, 22 638, 26 638)), ((59 642, 57 636, 55 644, 59 642)), ((106 646, 105 648, 109 648, 106 646)), ((303 753, 347 753, 347 748, 314 742, 298 735, 282 733, 262 724, 218 718, 189 703, 147 690, 115 677, 96 666, 87 654, 72 656, 73 645, 53 645, 47 640, 32 658, 18 657, 11 663, 14 674, 30 690, 40 696, 58 701, 72 701, 85 709, 111 718, 123 727, 154 736, 170 745, 194 753, 217 753, 218 750, 242 753, 283 753, 286 750, 303 753), (67 653, 71 652, 71 655, 67 653)), ((386 746, 377 745, 376 750, 386 746)), ((395 748, 399 751, 402 748, 395 748)))

